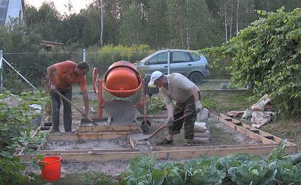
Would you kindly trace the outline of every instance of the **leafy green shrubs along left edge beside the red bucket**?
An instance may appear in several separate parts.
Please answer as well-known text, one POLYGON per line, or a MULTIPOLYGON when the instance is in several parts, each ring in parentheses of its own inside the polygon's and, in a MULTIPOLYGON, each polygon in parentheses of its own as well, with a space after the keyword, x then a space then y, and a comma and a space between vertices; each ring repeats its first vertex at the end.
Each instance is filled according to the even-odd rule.
POLYGON ((15 154, 20 148, 24 153, 35 152, 27 148, 28 144, 45 141, 45 134, 37 134, 31 138, 31 130, 37 129, 30 121, 40 116, 29 105, 44 105, 49 98, 43 98, 39 91, 22 93, 14 96, 6 91, 0 94, 0 182, 3 184, 19 184, 26 181, 22 175, 25 164, 15 154))

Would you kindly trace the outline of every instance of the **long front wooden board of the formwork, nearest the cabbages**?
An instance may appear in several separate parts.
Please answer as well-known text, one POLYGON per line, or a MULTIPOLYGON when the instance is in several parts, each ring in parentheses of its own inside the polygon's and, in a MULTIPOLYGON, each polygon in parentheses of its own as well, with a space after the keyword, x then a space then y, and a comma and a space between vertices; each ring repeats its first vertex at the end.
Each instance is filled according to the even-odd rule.
MULTIPOLYGON (((173 159, 173 160, 182 160, 189 158, 197 158, 200 155, 207 156, 224 156, 233 152, 239 153, 249 153, 250 155, 268 155, 274 146, 258 146, 258 147, 245 147, 245 148, 207 148, 200 150, 166 150, 154 151, 157 154, 158 159, 173 159)), ((54 152, 54 151, 53 151, 54 152)), ((293 154, 298 151, 295 150, 295 147, 288 146, 286 147, 286 153, 293 154)), ((45 156, 54 155, 44 154, 45 156)), ((90 150, 85 150, 77 153, 55 153, 55 155, 60 155, 64 160, 72 161, 112 161, 112 160, 125 160, 135 157, 136 155, 148 155, 148 152, 141 151, 116 151, 115 152, 92 152, 90 150)), ((37 158, 37 155, 19 155, 21 161, 28 161, 37 158)))

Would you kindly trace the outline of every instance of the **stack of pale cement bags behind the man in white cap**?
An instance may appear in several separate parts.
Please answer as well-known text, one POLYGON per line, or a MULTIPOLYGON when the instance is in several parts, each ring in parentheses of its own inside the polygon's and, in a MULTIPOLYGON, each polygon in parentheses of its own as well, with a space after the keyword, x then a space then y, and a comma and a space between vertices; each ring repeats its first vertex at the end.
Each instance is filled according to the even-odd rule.
POLYGON ((210 132, 207 128, 209 118, 209 110, 203 109, 196 117, 194 123, 194 141, 196 143, 208 143, 210 139, 210 132))

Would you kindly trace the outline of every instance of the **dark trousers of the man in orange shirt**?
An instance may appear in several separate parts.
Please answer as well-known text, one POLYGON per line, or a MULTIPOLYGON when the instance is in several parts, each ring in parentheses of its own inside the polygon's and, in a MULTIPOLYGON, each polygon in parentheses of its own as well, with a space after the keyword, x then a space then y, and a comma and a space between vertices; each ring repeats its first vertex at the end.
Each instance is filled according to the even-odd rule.
MULTIPOLYGON (((60 89, 57 90, 65 96, 68 100, 72 99, 72 87, 70 89, 60 89)), ((51 92, 52 101, 52 121, 53 121, 53 131, 58 131, 60 126, 60 95, 51 92)), ((64 128, 65 132, 71 132, 72 115, 71 115, 71 104, 62 98, 62 103, 64 105, 64 128)))

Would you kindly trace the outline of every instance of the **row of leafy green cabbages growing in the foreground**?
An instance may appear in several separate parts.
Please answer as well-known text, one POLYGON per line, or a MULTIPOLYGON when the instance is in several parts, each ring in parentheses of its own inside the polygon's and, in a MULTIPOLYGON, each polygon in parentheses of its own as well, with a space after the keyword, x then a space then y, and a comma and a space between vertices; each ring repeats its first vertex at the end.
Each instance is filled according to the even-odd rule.
POLYGON ((204 157, 178 162, 164 162, 155 166, 157 156, 130 159, 121 173, 120 184, 222 184, 223 179, 242 184, 300 184, 301 164, 293 165, 284 151, 286 141, 279 143, 264 159, 259 155, 232 153, 225 157, 204 157))

